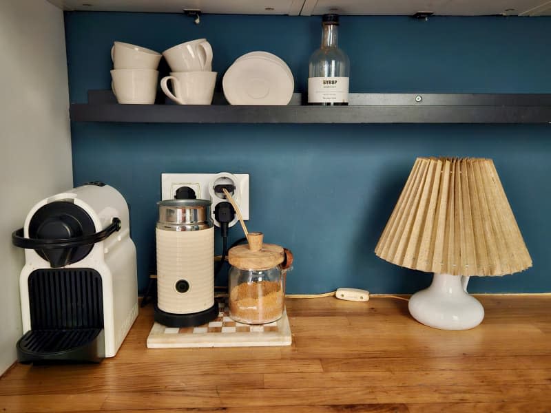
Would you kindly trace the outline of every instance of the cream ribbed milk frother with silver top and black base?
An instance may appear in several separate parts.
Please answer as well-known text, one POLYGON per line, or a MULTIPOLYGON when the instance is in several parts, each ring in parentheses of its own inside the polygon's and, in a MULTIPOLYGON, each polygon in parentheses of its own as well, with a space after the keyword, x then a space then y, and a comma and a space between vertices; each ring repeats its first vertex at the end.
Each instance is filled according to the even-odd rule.
POLYGON ((208 323, 218 317, 211 201, 176 199, 157 204, 155 321, 169 327, 208 323))

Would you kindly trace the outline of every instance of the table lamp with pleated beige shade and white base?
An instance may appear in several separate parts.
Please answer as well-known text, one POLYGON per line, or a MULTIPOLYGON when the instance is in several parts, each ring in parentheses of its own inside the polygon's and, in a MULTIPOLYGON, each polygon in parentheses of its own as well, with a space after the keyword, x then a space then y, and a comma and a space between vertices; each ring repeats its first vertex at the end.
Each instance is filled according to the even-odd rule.
POLYGON ((410 298, 409 311, 443 330, 467 330, 484 319, 466 291, 468 277, 532 266, 494 162, 484 158, 417 158, 375 254, 434 273, 430 287, 410 298))

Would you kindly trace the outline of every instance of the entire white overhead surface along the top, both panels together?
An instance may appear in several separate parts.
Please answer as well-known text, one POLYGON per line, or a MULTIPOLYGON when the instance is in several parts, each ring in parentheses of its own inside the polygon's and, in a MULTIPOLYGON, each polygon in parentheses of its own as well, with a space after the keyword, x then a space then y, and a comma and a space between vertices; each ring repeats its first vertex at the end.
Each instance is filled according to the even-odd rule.
POLYGON ((547 0, 48 0, 63 10, 168 12, 198 9, 214 14, 289 14, 334 12, 357 15, 551 16, 547 0))

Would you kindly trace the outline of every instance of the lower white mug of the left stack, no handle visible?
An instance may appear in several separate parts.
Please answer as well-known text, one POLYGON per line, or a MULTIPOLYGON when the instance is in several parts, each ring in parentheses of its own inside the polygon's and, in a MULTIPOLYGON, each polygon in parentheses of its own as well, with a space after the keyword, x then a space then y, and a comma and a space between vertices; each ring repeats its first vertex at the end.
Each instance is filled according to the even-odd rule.
POLYGON ((152 105, 157 94, 159 72, 153 69, 115 69, 111 87, 118 103, 152 105))

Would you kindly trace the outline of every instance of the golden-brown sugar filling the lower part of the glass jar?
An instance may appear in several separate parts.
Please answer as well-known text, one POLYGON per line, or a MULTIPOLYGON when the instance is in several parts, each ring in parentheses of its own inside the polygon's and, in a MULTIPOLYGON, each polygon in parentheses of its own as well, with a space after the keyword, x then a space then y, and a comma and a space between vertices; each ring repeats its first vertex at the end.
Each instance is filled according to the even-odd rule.
POLYGON ((231 288, 229 315, 245 324, 266 324, 283 314, 284 294, 280 282, 242 282, 231 288))

